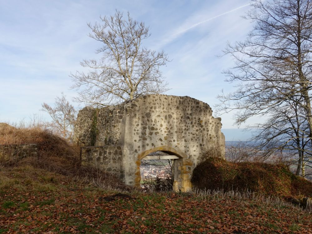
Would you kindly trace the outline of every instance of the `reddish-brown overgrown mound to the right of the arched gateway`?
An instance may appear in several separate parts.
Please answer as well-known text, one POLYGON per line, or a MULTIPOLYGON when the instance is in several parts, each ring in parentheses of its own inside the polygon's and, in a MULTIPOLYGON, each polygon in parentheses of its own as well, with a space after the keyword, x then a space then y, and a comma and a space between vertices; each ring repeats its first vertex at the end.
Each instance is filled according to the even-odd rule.
POLYGON ((211 157, 194 169, 192 183, 200 189, 248 189, 283 198, 312 196, 312 183, 295 176, 284 164, 235 163, 211 157))

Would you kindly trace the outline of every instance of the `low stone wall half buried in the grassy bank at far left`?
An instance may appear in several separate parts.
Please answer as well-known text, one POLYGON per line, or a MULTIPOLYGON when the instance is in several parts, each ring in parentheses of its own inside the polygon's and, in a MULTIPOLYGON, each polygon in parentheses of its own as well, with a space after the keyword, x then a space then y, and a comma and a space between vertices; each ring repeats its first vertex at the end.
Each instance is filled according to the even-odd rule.
POLYGON ((0 160, 20 159, 26 157, 37 157, 38 148, 36 144, 28 145, 0 145, 0 160))

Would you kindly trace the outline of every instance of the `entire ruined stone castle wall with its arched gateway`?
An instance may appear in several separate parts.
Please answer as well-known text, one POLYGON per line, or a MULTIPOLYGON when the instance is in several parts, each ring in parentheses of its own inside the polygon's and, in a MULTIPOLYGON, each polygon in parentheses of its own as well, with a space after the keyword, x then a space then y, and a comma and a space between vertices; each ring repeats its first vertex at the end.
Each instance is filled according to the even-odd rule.
POLYGON ((82 147, 82 164, 113 173, 128 185, 140 186, 142 158, 154 151, 168 153, 175 159, 174 190, 186 192, 192 188, 193 169, 209 151, 224 157, 221 126, 207 103, 188 96, 144 95, 80 110, 74 137, 82 147))

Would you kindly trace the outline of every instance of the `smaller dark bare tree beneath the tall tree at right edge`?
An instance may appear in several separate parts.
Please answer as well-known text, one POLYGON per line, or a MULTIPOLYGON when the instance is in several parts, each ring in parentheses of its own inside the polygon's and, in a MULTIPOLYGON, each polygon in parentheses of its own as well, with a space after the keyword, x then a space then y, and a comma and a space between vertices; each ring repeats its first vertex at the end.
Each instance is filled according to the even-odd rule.
POLYGON ((263 124, 252 126, 257 147, 264 149, 264 157, 270 157, 272 152, 282 150, 284 160, 296 161, 296 175, 304 176, 305 166, 310 167, 312 151, 309 138, 309 126, 304 110, 301 108, 303 97, 289 97, 284 109, 271 110, 270 118, 263 124), (256 129, 256 130, 255 130, 256 129))

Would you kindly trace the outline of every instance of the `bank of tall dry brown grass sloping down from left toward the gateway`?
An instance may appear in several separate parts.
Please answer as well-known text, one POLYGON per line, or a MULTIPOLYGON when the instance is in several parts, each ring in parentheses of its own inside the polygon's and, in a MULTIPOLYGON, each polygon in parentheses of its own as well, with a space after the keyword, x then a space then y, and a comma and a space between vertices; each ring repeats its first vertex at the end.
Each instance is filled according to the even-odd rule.
MULTIPOLYGON (((28 127, 0 124, 0 167, 2 167, 2 171, 3 168, 30 167, 35 170, 40 168, 70 177, 77 184, 121 190, 130 189, 111 174, 102 173, 96 168, 81 167, 79 147, 47 129, 42 129, 42 125, 38 124, 28 127), (21 157, 16 148, 29 144, 36 145, 37 154, 23 154, 21 157), (4 148, 6 148, 5 152, 4 148)), ((3 175, 1 174, 1 176, 3 180, 3 175)), ((3 186, 15 183, 10 179, 5 181, 6 185, 3 186)))

